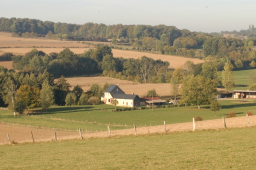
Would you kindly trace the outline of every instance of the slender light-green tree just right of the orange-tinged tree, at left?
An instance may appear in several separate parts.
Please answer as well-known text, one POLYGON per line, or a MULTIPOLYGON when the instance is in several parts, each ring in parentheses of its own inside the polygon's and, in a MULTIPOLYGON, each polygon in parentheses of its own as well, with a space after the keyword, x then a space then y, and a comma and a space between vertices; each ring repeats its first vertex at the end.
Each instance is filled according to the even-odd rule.
POLYGON ((50 107, 51 104, 54 103, 54 94, 51 86, 49 85, 49 81, 45 79, 42 83, 42 89, 40 90, 40 99, 42 109, 46 110, 50 107))

